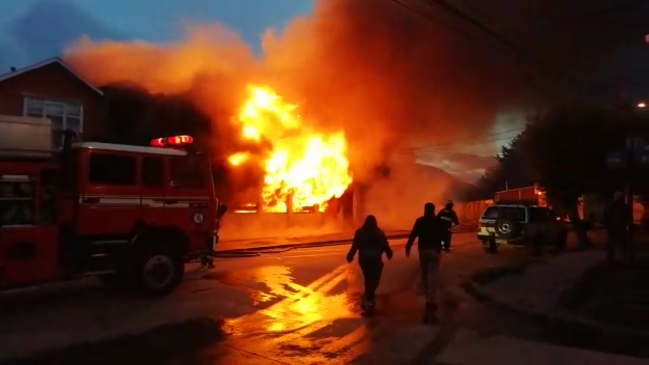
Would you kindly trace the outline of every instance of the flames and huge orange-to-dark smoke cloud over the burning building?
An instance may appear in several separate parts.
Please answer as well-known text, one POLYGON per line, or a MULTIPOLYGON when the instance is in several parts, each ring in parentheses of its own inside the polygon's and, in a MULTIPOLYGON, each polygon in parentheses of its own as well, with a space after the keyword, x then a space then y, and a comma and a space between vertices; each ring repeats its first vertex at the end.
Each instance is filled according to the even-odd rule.
MULTIPOLYGON (((83 38, 65 58, 93 84, 127 82, 191 101, 211 123, 210 135, 195 137, 224 162, 236 210, 326 216, 349 211, 349 191, 375 183, 377 166, 407 136, 479 138, 496 112, 519 106, 505 105, 525 95, 516 60, 475 62, 475 45, 456 37, 391 1, 319 0, 281 34, 263 34, 260 55, 221 25, 191 25, 166 44, 83 38)), ((417 210, 432 199, 426 191, 410 194, 417 210)), ((398 216, 406 202, 393 203, 398 216)))

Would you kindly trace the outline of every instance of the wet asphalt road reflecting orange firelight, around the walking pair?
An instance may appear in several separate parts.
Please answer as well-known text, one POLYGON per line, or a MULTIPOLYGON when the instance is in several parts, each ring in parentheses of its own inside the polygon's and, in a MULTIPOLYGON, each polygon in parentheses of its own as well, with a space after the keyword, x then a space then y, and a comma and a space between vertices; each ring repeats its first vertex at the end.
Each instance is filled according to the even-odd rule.
POLYGON ((447 346, 459 329, 562 341, 545 326, 480 303, 461 288, 476 270, 528 256, 523 249, 508 247, 488 255, 474 233, 456 234, 452 253, 443 255, 439 325, 422 329, 422 301, 415 295, 418 258, 416 253, 406 258, 404 244, 391 242, 395 257, 386 262, 374 318, 360 314, 362 278, 356 262, 345 262, 349 245, 293 249, 218 259, 210 271, 191 267, 179 290, 158 301, 93 284, 10 298, 0 321, 0 334, 6 334, 0 338, 0 346, 6 346, 0 353, 27 355, 66 340, 83 340, 95 344, 27 362, 345 364, 381 363, 384 351, 394 347, 402 349, 402 362, 412 362, 412 342, 427 337, 425 349, 420 348, 425 350, 419 357, 423 361, 447 346), (164 326, 123 336, 156 325, 164 326), (106 342, 106 337, 115 340, 106 342))

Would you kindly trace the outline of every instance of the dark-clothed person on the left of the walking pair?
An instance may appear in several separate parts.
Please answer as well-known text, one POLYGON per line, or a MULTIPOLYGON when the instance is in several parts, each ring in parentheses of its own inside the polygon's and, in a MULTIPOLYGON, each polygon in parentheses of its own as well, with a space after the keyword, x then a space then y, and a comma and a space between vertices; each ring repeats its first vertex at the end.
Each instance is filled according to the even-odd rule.
POLYGON ((358 264, 363 271, 363 282, 365 283, 361 308, 365 314, 371 315, 376 305, 374 295, 383 272, 383 254, 386 254, 388 260, 391 260, 393 255, 386 234, 378 227, 376 217, 367 216, 363 226, 356 230, 352 247, 347 253, 347 262, 354 260, 356 251, 358 251, 358 264))

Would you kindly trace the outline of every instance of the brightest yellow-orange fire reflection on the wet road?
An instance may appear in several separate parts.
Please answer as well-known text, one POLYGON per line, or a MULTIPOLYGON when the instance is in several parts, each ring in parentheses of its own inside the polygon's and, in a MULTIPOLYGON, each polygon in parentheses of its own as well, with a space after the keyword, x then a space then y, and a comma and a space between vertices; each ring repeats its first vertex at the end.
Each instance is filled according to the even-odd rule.
MULTIPOLYGON (((295 283, 286 266, 264 266, 250 276, 265 284, 268 307, 225 323, 230 346, 266 359, 300 357, 305 364, 341 355, 367 334, 366 321, 356 310, 356 273, 338 266, 307 286, 295 283)), ((362 352, 362 350, 360 351, 362 352)), ((282 360, 283 361, 283 360, 282 360)), ((291 362, 295 363, 295 362, 291 362)))

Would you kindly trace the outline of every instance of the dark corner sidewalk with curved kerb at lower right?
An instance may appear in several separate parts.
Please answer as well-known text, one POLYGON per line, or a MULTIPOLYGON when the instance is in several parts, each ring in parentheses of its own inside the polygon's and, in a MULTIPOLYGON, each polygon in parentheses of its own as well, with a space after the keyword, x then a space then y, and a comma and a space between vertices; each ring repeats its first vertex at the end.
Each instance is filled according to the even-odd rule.
MULTIPOLYGON (((643 267, 642 262, 649 262, 649 251, 637 252, 635 262, 620 267, 626 271, 643 267)), ((582 346, 583 340, 598 351, 649 356, 648 292, 644 288, 632 296, 629 293, 635 292, 628 290, 634 284, 644 285, 647 278, 633 274, 632 281, 626 273, 622 275, 626 279, 619 280, 618 271, 606 264, 604 249, 592 249, 528 262, 515 270, 503 270, 505 275, 500 277, 484 275, 482 279, 487 280, 474 275, 467 289, 480 299, 543 323, 556 343, 582 346), (614 289, 607 289, 611 287, 614 289), (645 302, 638 297, 644 297, 645 302)))

